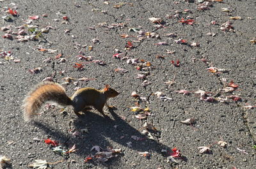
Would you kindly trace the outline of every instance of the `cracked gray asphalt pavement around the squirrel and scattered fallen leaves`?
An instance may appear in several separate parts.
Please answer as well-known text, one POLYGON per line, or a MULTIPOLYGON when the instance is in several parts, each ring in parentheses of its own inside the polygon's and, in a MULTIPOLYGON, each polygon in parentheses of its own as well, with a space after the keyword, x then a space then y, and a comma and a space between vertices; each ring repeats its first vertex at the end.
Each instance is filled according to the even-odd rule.
MULTIPOLYGON (((0 156, 10 158, 12 163, 5 167, 28 168, 35 159, 42 159, 52 163, 50 168, 255 168, 256 115, 255 108, 248 106, 256 106, 256 2, 211 3, 207 10, 198 10, 198 1, 181 0, 1 1, 1 17, 12 18, 9 22, 3 19, 1 27, 10 26, 9 30, 18 32, 16 27, 25 26, 30 35, 29 26, 37 26, 38 30, 51 26, 49 33, 42 33, 38 40, 19 41, 13 32, 12 40, 0 38, 0 156), (18 16, 6 13, 8 8, 16 9, 18 16), (38 20, 28 23, 29 16, 35 15, 38 20), (236 16, 241 19, 230 19, 236 16), (148 19, 152 17, 164 22, 152 23, 148 19), (182 17, 195 22, 181 23, 182 17), (228 20, 232 27, 227 25, 221 30, 228 20), (170 33, 177 36, 166 36, 170 33), (123 34, 129 37, 122 38, 123 34), (176 43, 179 39, 187 42, 176 43), (131 48, 127 47, 128 41, 132 42, 131 48), (167 44, 157 45, 159 42, 167 44), (198 46, 193 47, 193 42, 198 46), (51 54, 38 48, 57 51, 51 54), (166 50, 175 52, 168 54, 166 50), (4 55, 4 51, 11 55, 4 55), (123 53, 122 58, 113 58, 118 52, 123 53), (66 61, 56 59, 58 54, 66 61), (92 56, 93 61, 79 60, 77 55, 92 56), (138 58, 148 65, 138 68, 125 58, 138 58), (97 64, 97 60, 106 65, 97 64), (171 61, 177 60, 180 65, 174 66, 171 61), (74 68, 75 63, 83 64, 84 69, 74 68), (210 67, 219 71, 211 73, 207 70, 210 67), (34 68, 42 70, 33 74, 29 70, 34 68), (127 72, 115 72, 116 68, 127 72), (146 77, 137 78, 138 74, 146 77), (110 84, 121 93, 109 100, 116 110, 108 114, 109 119, 93 109, 79 119, 71 107, 64 112, 61 108, 50 108, 26 123, 20 108, 22 100, 31 87, 46 77, 63 84, 68 96, 77 86, 102 89, 110 84), (67 84, 67 77, 74 80, 67 84), (83 77, 91 80, 78 81, 83 77), (143 86, 144 80, 150 84, 145 82, 143 86), (231 80, 239 87, 223 91, 231 80), (177 93, 181 89, 190 94, 177 93), (198 90, 214 99, 229 98, 225 103, 204 101, 200 94, 195 94, 198 90), (137 119, 139 113, 131 111, 131 107, 138 106, 138 100, 131 96, 133 91, 145 98, 139 101, 139 106, 150 109, 147 119, 137 119), (156 92, 163 92, 166 98, 157 98, 156 92), (241 99, 232 100, 238 96, 241 99), (180 123, 189 118, 196 123, 180 123), (145 122, 156 128, 148 130, 152 136, 141 133, 145 122), (84 129, 88 132, 83 132, 84 129), (134 140, 134 136, 140 139, 134 140), (58 141, 65 150, 76 144, 77 151, 61 156, 44 143, 47 138, 58 141), (219 141, 227 142, 227 147, 221 147, 219 141), (100 163, 94 157, 95 151, 91 151, 95 145, 105 151, 113 147, 122 152, 100 163), (200 153, 201 146, 209 147, 211 152, 200 153), (174 147, 182 158, 175 159, 177 163, 168 163, 174 147), (149 152, 150 156, 141 156, 140 152, 149 152), (93 159, 84 162, 88 156, 93 159)), ((1 31, 1 36, 5 34, 1 31)))

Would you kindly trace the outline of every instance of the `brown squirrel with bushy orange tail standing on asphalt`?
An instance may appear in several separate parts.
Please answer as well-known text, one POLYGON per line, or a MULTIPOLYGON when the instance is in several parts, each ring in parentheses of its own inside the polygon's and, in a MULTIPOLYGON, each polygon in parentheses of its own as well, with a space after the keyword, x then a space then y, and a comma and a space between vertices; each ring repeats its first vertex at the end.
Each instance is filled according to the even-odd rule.
POLYGON ((94 107, 104 117, 104 105, 108 108, 107 101, 109 98, 118 96, 118 92, 111 89, 109 85, 105 85, 104 89, 97 90, 92 87, 84 87, 74 92, 73 96, 68 97, 65 89, 55 82, 41 82, 36 85, 26 96, 23 101, 22 108, 24 109, 24 120, 31 121, 31 117, 38 112, 44 103, 52 101, 60 106, 71 105, 74 108, 74 113, 79 116, 88 107, 94 107))

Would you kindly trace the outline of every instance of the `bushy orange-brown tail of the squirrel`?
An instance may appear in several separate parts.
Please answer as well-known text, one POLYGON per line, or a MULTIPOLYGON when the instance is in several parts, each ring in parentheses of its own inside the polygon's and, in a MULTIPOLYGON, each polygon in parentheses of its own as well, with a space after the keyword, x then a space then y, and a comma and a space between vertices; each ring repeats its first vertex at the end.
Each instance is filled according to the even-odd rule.
POLYGON ((72 105, 71 99, 67 96, 65 89, 60 84, 42 82, 36 85, 23 101, 24 120, 31 121, 31 117, 47 101, 52 101, 63 106, 72 105))

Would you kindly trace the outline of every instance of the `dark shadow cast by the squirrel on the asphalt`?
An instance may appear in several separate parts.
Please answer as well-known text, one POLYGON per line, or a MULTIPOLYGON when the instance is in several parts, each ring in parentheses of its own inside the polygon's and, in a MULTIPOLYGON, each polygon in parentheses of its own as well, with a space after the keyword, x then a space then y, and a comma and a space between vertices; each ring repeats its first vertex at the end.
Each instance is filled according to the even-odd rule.
MULTIPOLYGON (((94 145, 99 145, 103 149, 113 147, 113 149, 133 149, 138 152, 148 151, 163 156, 167 156, 167 154, 163 154, 161 152, 162 149, 171 151, 170 147, 159 143, 157 138, 151 140, 147 136, 142 135, 138 129, 130 126, 128 122, 120 118, 113 110, 109 110, 109 112, 114 120, 92 112, 86 112, 84 116, 76 118, 73 124, 76 131, 81 131, 81 129, 85 128, 88 129, 88 133, 77 137, 67 136, 64 133, 54 131, 41 122, 34 122, 34 124, 49 133, 52 138, 58 138, 60 142, 66 143, 67 147, 76 143, 76 147, 79 149, 76 154, 82 158, 95 154, 95 152, 91 152, 94 145), (137 136, 141 139, 136 141, 131 136, 137 136), (120 146, 115 147, 113 142, 118 143, 120 146)), ((118 158, 113 158, 109 160, 108 164, 103 165, 111 165, 116 161, 118 161, 118 158)))

